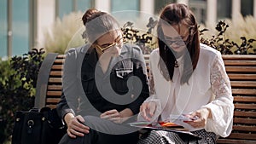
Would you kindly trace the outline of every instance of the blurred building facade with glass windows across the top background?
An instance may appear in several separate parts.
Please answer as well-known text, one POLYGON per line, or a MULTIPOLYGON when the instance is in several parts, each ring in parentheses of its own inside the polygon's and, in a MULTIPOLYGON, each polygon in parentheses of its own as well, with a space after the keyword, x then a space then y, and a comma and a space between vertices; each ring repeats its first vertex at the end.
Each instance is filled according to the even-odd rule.
MULTIPOLYGON (((41 2, 44 0, 0 0, 0 57, 22 55, 28 50, 35 46, 35 41, 38 31, 37 20, 37 5, 35 8, 34 3, 41 2)), ((65 14, 70 14, 73 11, 82 11, 86 9, 101 7, 101 4, 108 6, 101 7, 106 8, 110 13, 117 11, 130 10, 135 13, 129 13, 125 15, 123 19, 138 18, 139 11, 142 10, 141 3, 147 4, 147 0, 52 0, 50 7, 53 7, 55 14, 53 17, 62 18, 65 14), (104 1, 105 3, 102 3, 104 1), (97 5, 96 5, 97 2, 97 5), (54 5, 55 4, 55 5, 54 5)), ((152 14, 159 14, 166 3, 177 3, 181 0, 150 0, 148 9, 152 14), (153 4, 154 3, 154 4, 153 4)), ((205 24, 209 11, 207 7, 211 8, 212 5, 209 3, 214 2, 216 15, 214 20, 222 20, 225 18, 231 18, 232 12, 240 12, 243 16, 256 14, 255 2, 256 0, 184 0, 189 4, 190 9, 195 13, 196 19, 199 23, 205 24), (238 9, 233 9, 232 5, 239 5, 238 9), (238 4, 237 4, 238 3, 238 4)), ((143 10, 147 9, 148 6, 143 5, 143 10)), ((99 9, 101 9, 99 8, 99 9)), ((51 13, 50 13, 51 14, 51 13)), ((123 16, 124 14, 122 14, 123 16)), ((253 15, 256 17, 256 15, 253 15)), ((41 33, 40 33, 41 34, 41 33)))

